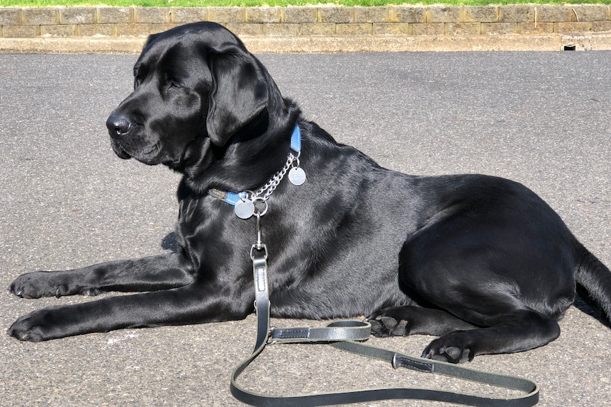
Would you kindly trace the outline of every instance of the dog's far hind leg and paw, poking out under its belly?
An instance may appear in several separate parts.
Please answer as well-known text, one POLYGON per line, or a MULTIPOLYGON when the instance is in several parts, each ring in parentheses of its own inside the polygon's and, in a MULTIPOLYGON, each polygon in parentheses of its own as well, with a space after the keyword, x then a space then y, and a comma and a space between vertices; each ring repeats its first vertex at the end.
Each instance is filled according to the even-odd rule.
POLYGON ((440 309, 420 306, 391 306, 367 317, 371 334, 379 337, 406 335, 442 336, 458 330, 474 329, 471 323, 440 309))

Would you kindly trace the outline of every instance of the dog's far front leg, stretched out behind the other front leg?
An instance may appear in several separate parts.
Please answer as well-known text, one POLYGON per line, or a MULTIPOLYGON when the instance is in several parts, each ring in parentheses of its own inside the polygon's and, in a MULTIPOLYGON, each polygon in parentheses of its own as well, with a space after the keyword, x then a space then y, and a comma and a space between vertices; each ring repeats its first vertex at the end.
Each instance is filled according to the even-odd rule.
POLYGON ((62 295, 123 291, 143 292, 182 287, 194 281, 179 255, 170 253, 135 260, 119 260, 76 270, 36 271, 23 274, 9 286, 19 297, 61 297, 62 295))

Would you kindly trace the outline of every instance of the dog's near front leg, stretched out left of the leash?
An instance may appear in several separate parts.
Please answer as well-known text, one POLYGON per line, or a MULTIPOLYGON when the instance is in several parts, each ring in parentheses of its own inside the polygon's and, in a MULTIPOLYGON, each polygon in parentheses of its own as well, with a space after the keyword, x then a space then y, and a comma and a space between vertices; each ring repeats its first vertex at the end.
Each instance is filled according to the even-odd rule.
POLYGON ((250 290, 230 292, 196 282, 173 290, 50 306, 21 316, 8 333, 20 340, 40 342, 120 328, 228 321, 252 313, 253 301, 250 290))

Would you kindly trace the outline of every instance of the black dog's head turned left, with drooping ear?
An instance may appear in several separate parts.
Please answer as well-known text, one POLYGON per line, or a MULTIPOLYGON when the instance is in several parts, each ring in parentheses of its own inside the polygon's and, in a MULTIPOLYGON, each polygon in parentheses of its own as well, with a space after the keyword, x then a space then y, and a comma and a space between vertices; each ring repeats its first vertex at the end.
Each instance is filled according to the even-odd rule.
POLYGON ((111 144, 120 158, 179 169, 257 121, 279 96, 271 84, 262 64, 221 25, 151 35, 134 67, 133 93, 106 121, 111 144))

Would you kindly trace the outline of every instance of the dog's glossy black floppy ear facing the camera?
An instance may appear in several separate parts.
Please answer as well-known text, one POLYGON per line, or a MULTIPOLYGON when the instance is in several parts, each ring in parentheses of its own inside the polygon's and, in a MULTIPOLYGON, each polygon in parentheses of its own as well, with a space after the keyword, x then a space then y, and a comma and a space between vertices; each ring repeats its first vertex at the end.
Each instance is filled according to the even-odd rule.
POLYGON ((212 74, 206 127, 211 142, 223 146, 267 107, 268 84, 256 59, 237 45, 208 52, 212 74))

